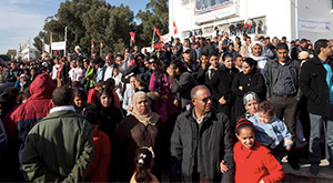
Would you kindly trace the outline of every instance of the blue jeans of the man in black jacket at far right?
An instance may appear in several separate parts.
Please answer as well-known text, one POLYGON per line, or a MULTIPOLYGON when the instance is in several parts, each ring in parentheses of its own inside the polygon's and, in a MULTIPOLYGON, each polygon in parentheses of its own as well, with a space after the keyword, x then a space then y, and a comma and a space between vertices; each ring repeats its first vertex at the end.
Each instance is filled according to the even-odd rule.
POLYGON ((333 163, 333 105, 331 105, 331 116, 322 116, 310 113, 311 133, 310 133, 310 162, 311 165, 317 166, 321 161, 321 135, 325 134, 326 159, 333 163))

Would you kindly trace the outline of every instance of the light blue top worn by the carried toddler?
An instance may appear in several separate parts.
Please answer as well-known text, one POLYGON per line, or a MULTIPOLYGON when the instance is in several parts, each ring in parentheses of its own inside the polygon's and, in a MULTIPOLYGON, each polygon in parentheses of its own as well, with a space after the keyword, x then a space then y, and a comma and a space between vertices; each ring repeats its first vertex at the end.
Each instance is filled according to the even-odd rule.
POLYGON ((275 116, 271 122, 264 124, 259 121, 258 114, 251 116, 249 121, 253 123, 256 130, 255 139, 260 144, 271 146, 271 149, 278 146, 282 141, 284 141, 284 146, 293 144, 292 135, 283 121, 275 116))

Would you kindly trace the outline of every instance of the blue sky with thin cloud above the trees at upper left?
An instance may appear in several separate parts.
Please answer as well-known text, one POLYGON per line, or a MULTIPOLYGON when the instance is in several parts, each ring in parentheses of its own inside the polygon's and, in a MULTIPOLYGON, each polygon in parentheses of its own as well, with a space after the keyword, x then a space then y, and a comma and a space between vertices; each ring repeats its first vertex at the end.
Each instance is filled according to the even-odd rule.
MULTIPOLYGON (((0 54, 9 49, 19 50, 42 30, 44 20, 58 12, 65 0, 0 0, 0 54)), ((111 6, 129 6, 134 12, 144 10, 150 0, 107 0, 111 6)), ((32 43, 31 43, 32 45, 32 43)))

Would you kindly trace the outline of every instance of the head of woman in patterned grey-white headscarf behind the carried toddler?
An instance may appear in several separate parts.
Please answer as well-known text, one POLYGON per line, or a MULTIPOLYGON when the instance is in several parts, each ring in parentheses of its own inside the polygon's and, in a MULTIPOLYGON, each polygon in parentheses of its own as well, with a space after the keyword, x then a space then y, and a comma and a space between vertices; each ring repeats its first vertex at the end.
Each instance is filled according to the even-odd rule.
POLYGON ((240 118, 245 118, 245 119, 250 119, 251 116, 253 116, 259 109, 259 96, 256 93, 250 91, 248 93, 244 94, 243 96, 243 104, 245 108, 245 113, 243 115, 241 115, 240 118))

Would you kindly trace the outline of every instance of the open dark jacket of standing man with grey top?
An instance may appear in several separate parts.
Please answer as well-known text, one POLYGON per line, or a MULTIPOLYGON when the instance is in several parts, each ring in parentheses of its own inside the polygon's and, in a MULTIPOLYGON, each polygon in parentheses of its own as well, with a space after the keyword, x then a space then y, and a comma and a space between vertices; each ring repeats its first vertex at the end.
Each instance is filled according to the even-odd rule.
MULTIPOLYGON (((279 61, 278 59, 268 61, 264 68, 264 79, 265 79, 265 85, 266 85, 266 99, 270 99, 272 96, 272 89, 275 85, 279 77, 279 61)), ((289 68, 290 75, 292 78, 292 82, 294 84, 294 88, 296 89, 296 96, 301 99, 302 92, 299 88, 299 81, 300 81, 300 62, 295 60, 289 60, 287 63, 285 63, 289 68)))

